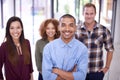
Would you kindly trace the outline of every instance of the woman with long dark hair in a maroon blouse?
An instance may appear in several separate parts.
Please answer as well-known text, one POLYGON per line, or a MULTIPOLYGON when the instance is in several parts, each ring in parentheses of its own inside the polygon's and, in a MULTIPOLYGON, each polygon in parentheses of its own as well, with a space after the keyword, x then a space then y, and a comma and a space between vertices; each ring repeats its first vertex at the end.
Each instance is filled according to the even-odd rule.
POLYGON ((6 80, 33 80, 30 43, 24 38, 21 19, 15 16, 7 22, 5 40, 0 47, 0 80, 3 80, 3 65, 6 80))

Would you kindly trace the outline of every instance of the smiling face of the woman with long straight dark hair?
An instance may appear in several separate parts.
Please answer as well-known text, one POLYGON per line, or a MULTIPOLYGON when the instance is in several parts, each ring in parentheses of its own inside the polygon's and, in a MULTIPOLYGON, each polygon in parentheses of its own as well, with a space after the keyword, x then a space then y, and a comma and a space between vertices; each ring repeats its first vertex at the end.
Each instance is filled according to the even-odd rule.
POLYGON ((13 41, 19 41, 19 38, 22 33, 22 27, 21 27, 20 22, 18 22, 18 21, 12 22, 10 24, 9 32, 10 32, 10 35, 11 35, 13 41))

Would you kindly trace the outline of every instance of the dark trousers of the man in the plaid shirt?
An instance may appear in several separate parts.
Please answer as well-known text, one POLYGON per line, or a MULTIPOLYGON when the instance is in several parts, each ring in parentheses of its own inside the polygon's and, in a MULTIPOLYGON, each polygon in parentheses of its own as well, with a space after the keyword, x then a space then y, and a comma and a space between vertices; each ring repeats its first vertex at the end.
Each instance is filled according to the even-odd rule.
POLYGON ((86 76, 85 80, 103 80, 103 78, 104 78, 103 71, 101 71, 101 72, 91 72, 91 73, 87 73, 87 76, 86 76))

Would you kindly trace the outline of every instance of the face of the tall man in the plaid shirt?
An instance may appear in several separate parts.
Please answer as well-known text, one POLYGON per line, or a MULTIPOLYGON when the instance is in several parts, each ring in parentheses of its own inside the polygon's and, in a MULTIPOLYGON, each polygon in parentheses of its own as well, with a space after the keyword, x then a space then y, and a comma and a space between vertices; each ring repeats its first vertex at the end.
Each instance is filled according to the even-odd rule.
POLYGON ((91 24, 92 22, 94 22, 95 15, 96 15, 96 12, 93 7, 84 8, 83 16, 85 18, 86 23, 91 24))

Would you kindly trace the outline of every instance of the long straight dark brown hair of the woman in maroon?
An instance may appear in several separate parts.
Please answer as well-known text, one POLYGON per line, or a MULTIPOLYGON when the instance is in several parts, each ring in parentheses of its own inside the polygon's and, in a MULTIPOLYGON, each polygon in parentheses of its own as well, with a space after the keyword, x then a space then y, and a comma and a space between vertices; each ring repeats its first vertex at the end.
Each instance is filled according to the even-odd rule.
POLYGON ((28 48, 29 47, 28 43, 24 38, 23 23, 22 23, 20 18, 15 17, 15 16, 9 18, 9 20, 7 21, 7 25, 6 25, 5 38, 6 38, 6 44, 7 44, 6 48, 9 51, 8 58, 9 58, 10 62, 13 64, 16 64, 18 61, 17 49, 16 49, 16 46, 15 46, 13 39, 10 35, 10 25, 12 22, 15 22, 15 21, 18 21, 22 27, 22 33, 21 33, 19 41, 20 41, 21 50, 22 50, 22 53, 24 56, 24 63, 29 64, 30 63, 30 50, 28 48))

